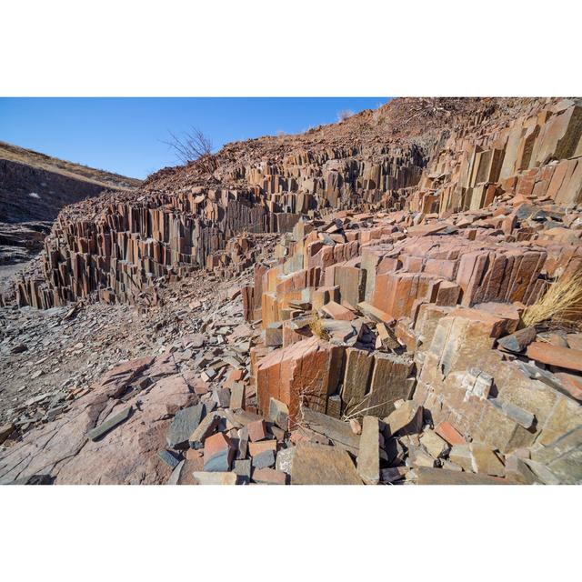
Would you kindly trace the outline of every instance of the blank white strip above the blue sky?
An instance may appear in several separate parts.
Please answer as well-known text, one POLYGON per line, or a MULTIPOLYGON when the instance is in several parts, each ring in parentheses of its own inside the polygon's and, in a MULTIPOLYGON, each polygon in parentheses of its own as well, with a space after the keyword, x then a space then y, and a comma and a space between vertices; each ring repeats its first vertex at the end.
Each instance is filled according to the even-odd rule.
POLYGON ((18 0, 0 95, 579 95, 571 0, 18 0))

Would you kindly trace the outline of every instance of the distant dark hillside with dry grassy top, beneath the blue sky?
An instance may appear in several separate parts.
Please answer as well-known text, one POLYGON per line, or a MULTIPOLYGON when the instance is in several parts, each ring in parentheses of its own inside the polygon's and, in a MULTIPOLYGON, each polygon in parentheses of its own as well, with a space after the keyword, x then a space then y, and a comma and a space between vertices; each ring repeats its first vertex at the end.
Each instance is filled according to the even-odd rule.
POLYGON ((0 266, 27 261, 43 247, 61 209, 139 180, 79 166, 0 142, 0 266))

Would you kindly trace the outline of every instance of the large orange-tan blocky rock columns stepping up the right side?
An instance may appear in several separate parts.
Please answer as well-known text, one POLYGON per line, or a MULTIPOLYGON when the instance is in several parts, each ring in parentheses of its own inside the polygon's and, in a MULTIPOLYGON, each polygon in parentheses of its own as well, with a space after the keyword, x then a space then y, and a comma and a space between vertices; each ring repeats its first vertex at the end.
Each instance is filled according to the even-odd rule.
POLYGON ((576 389, 524 371, 496 342, 517 330, 547 282, 582 271, 579 108, 562 101, 507 127, 467 127, 434 158, 407 210, 301 219, 281 240, 284 258, 257 266, 248 289, 249 321, 284 330, 283 347, 268 347, 257 364, 259 407, 269 397, 306 403, 301 374, 282 370, 303 369, 313 346, 331 343, 343 351, 341 376, 306 403, 328 416, 388 416, 412 398, 430 422, 504 455, 557 447, 577 430, 576 389), (473 152, 467 168, 459 144, 473 152), (437 187, 427 194, 427 184, 437 187), (452 204, 458 188, 464 197, 452 204), (362 326, 375 329, 374 347, 362 326))

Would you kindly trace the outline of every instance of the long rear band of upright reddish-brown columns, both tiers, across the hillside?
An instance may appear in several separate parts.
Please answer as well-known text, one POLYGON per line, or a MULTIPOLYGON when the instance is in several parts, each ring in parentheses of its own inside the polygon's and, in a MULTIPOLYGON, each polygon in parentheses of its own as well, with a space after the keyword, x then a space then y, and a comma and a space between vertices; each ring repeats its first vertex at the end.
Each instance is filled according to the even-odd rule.
POLYGON ((278 165, 237 167, 224 176, 232 187, 150 185, 146 193, 74 206, 45 239, 44 278, 18 282, 18 304, 135 303, 160 277, 219 266, 219 252, 237 234, 285 233, 299 216, 325 208, 403 205, 402 192, 416 186, 426 162, 416 146, 366 152, 373 162, 362 156, 358 147, 307 152, 278 165))

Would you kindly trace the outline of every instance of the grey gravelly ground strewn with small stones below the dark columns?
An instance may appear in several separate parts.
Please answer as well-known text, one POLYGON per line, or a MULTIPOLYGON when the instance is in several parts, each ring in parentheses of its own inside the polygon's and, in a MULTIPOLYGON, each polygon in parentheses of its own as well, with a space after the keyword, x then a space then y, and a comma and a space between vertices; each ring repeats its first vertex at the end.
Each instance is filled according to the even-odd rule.
MULTIPOLYGON (((245 279, 241 279, 244 281, 245 279)), ((160 288, 160 305, 0 309, 0 424, 20 434, 62 415, 116 364, 156 356, 196 334, 226 296, 216 278, 160 288)), ((233 282, 236 285, 236 282, 233 282)))

